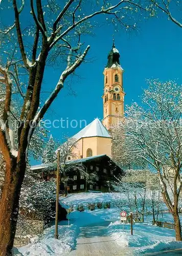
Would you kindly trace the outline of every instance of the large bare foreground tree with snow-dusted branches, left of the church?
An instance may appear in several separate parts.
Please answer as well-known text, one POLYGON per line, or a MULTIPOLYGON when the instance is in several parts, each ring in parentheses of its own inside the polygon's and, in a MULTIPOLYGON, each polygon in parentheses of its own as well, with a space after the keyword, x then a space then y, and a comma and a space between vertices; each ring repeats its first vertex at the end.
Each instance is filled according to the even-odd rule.
MULTIPOLYGON (((145 2, 145 1, 144 1, 145 2)), ((74 74, 85 60, 90 46, 84 46, 85 34, 97 26, 95 17, 122 28, 135 29, 136 19, 145 12, 138 0, 107 1, 1 1, 0 83, 4 102, 0 119, 0 149, 5 164, 5 183, 0 201, 0 251, 11 255, 18 216, 20 188, 24 180, 29 146, 35 127, 62 90, 67 77, 74 74), (8 17, 8 19, 7 19, 8 17), (26 17, 26 18, 25 18, 26 17), (24 18, 24 20, 23 20, 24 18), (45 68, 52 60, 62 63, 60 77, 52 93, 40 106, 45 68), (18 116, 18 147, 14 146, 14 131, 10 113, 12 98, 20 94, 18 116)), ((146 3, 145 7, 146 7, 146 3)), ((148 8, 152 11, 151 7, 148 8)))

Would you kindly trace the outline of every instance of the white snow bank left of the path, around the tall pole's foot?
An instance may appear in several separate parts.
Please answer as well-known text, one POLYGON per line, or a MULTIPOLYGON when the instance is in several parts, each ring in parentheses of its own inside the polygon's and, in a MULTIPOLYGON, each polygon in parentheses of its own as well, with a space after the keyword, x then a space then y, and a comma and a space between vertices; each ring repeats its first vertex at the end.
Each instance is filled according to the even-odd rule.
MULTIPOLYGON (((63 222, 61 222, 63 224, 63 222)), ((43 237, 35 244, 19 248, 24 256, 60 256, 74 249, 77 238, 77 227, 74 224, 70 226, 58 226, 59 239, 54 238, 55 226, 45 229, 43 237)))

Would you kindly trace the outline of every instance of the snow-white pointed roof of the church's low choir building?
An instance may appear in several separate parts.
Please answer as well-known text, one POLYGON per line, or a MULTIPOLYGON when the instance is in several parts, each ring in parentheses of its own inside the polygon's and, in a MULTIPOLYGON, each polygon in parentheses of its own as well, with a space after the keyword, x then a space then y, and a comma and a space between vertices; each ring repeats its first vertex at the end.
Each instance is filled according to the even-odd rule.
POLYGON ((110 134, 101 123, 101 121, 96 118, 94 121, 86 125, 80 132, 75 134, 73 138, 79 140, 86 137, 107 137, 110 138, 110 134))

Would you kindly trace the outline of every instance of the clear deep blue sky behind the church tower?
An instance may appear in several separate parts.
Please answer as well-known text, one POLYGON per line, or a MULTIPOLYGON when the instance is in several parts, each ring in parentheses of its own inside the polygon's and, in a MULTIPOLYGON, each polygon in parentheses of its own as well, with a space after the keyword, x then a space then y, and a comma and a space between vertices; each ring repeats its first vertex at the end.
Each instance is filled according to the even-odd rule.
MULTIPOLYGON (((95 36, 86 36, 85 45, 90 45, 88 58, 77 70, 78 77, 72 81, 77 96, 69 95, 69 87, 60 92, 45 119, 85 119, 87 123, 94 118, 103 117, 103 70, 107 63, 107 54, 112 46, 113 26, 97 28, 95 36)), ((120 51, 120 63, 124 69, 125 104, 140 102, 142 88, 146 88, 145 79, 176 79, 182 81, 182 29, 173 24, 166 16, 143 20, 138 33, 124 30, 115 33, 116 48, 120 51)), ((44 88, 53 89, 60 67, 48 68, 44 78, 44 88)), ((70 84, 70 82, 69 82, 70 84)), ((44 100, 47 94, 42 94, 44 100)), ((53 137, 61 140, 63 134, 72 136, 80 130, 49 129, 53 137)))

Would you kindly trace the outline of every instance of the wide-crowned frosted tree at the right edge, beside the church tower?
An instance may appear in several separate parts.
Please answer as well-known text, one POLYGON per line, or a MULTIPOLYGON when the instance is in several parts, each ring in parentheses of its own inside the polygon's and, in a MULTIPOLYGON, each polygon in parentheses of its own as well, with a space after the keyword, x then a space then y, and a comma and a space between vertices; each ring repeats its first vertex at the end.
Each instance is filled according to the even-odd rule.
POLYGON ((127 117, 113 127, 117 140, 124 134, 114 152, 117 157, 124 157, 126 163, 143 159, 156 172, 163 200, 174 218, 176 240, 181 240, 178 215, 182 184, 181 85, 159 80, 149 80, 148 84, 142 97, 144 107, 133 103, 127 108, 127 117))

